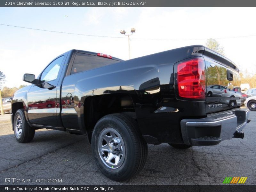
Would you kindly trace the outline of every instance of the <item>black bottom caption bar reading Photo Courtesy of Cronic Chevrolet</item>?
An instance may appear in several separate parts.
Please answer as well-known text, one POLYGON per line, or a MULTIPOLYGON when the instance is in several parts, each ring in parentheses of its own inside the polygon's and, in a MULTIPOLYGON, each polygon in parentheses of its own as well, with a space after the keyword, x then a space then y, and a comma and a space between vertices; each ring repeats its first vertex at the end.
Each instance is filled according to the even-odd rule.
POLYGON ((20 186, 0 186, 0 192, 255 192, 255 185, 203 185, 203 186, 179 186, 179 185, 165 185, 165 186, 129 186, 129 185, 112 185, 112 186, 92 186, 92 185, 20 185, 20 186))

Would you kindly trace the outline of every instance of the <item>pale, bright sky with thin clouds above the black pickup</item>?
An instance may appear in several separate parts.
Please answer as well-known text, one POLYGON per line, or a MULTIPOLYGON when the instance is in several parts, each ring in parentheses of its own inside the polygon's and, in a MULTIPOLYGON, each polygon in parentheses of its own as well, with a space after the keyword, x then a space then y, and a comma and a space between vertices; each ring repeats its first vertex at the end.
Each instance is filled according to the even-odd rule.
POLYGON ((0 8, 0 24, 87 34, 70 35, 0 25, 3 86, 19 87, 24 73, 38 76, 55 57, 71 49, 100 52, 128 60, 215 38, 225 56, 249 75, 256 73, 256 8, 0 8), (95 36, 113 36, 95 37, 95 36), (241 37, 242 36, 242 37, 241 37), (235 37, 235 38, 234 38, 235 37))

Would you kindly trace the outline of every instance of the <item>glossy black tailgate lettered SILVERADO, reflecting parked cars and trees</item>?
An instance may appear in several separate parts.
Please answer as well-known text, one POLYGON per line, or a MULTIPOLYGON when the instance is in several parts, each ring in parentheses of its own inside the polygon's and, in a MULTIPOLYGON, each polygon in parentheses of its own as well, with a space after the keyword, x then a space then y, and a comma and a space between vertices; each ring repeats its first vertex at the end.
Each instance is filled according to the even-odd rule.
POLYGON ((240 107, 239 70, 224 56, 205 48, 206 114, 240 107))

